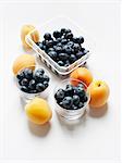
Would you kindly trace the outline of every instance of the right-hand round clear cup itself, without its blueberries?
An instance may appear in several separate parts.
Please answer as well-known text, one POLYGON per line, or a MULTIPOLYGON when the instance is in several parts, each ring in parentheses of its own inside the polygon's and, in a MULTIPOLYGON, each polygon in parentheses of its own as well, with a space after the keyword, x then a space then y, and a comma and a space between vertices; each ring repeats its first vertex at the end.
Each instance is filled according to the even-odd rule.
MULTIPOLYGON (((87 101, 85 102, 84 106, 81 108, 81 109, 77 109, 77 110, 66 110, 66 109, 60 106, 60 105, 57 103, 57 100, 56 100, 56 98, 54 98, 54 101, 56 101, 56 111, 57 111, 57 113, 58 113, 61 117, 63 117, 64 120, 68 120, 68 121, 72 121, 72 120, 74 121, 74 120, 77 120, 77 118, 80 118, 81 116, 83 116, 84 113, 85 113, 85 111, 86 111, 86 109, 87 109, 87 106, 88 106, 89 99, 90 99, 90 95, 89 95, 89 92, 88 92, 88 90, 87 90, 87 86, 86 86, 84 83, 82 83, 81 80, 78 80, 78 79, 73 79, 73 78, 69 78, 69 79, 62 80, 62 82, 56 87, 56 89, 54 89, 54 95, 56 95, 56 92, 57 92, 59 89, 65 89, 65 86, 69 85, 69 84, 71 85, 71 82, 78 83, 78 84, 82 84, 82 85, 84 86, 84 89, 86 90, 87 101)), ((53 95, 53 97, 54 97, 54 95, 53 95)))

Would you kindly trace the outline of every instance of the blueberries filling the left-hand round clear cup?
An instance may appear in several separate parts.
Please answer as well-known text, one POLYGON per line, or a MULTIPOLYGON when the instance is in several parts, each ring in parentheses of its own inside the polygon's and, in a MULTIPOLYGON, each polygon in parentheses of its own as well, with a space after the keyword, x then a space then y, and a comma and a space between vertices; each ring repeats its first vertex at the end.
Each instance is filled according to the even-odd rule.
POLYGON ((16 75, 16 78, 20 89, 28 93, 44 91, 49 86, 50 80, 42 68, 36 71, 24 68, 16 75))

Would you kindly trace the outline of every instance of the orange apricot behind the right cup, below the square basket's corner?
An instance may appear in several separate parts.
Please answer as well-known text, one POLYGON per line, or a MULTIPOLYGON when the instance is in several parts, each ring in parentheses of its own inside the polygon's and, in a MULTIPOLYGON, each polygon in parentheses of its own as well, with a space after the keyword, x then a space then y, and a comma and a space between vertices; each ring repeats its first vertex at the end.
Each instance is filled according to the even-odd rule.
MULTIPOLYGON (((71 73, 70 77, 83 82, 84 84, 86 84, 86 86, 89 86, 89 84, 93 82, 93 75, 86 67, 76 68, 71 73)), ((76 84, 77 83, 73 80, 73 85, 76 84)))

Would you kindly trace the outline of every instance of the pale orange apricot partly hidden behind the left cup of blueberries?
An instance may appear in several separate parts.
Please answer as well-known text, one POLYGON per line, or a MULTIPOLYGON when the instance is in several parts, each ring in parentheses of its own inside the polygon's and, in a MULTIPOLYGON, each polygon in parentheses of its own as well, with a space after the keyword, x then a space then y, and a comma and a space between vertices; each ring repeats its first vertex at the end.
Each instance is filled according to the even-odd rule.
POLYGON ((22 68, 24 67, 30 67, 33 65, 36 64, 35 58, 30 54, 22 54, 20 57, 17 57, 15 59, 15 61, 13 62, 13 73, 14 75, 16 75, 22 68))

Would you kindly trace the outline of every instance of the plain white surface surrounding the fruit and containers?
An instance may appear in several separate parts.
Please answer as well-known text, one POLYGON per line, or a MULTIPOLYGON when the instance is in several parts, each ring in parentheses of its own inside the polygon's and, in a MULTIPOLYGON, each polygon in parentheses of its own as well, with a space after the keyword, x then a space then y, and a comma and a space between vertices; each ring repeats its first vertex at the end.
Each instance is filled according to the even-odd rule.
MULTIPOLYGON (((3 158, 5 159, 119 159, 120 113, 120 28, 119 4, 7 4, 3 7, 5 88, 1 108, 3 123, 3 158), (7 12, 8 11, 8 12, 7 12), (62 14, 80 24, 94 39, 94 53, 88 67, 95 78, 107 80, 110 86, 108 111, 101 117, 86 116, 77 126, 62 124, 53 111, 50 126, 37 127, 27 122, 13 83, 11 66, 14 59, 25 51, 20 40, 23 24, 41 24, 62 14), (5 42, 5 43, 4 43, 5 42), (8 102, 7 102, 8 101, 8 102)), ((60 80, 52 73, 52 87, 60 80)), ((3 90, 3 89, 2 89, 3 90)))

